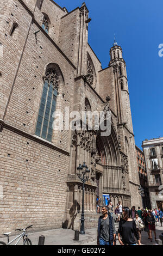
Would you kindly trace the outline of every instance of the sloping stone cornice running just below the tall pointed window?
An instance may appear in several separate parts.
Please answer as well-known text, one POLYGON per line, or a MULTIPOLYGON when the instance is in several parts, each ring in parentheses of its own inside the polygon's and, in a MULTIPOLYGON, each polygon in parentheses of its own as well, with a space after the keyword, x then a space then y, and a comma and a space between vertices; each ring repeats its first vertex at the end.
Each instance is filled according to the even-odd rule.
POLYGON ((58 151, 61 154, 64 154, 66 156, 70 156, 70 153, 64 149, 58 148, 57 146, 55 146, 54 144, 52 144, 51 142, 46 141, 45 139, 42 139, 41 137, 38 137, 36 135, 30 135, 28 132, 24 132, 21 129, 18 129, 8 123, 5 123, 4 120, 0 119, 0 131, 2 132, 2 130, 5 128, 7 130, 10 130, 14 133, 17 133, 18 135, 21 135, 23 137, 26 137, 28 139, 31 139, 32 141, 35 141, 37 143, 40 143, 42 145, 45 145, 48 148, 54 149, 56 151, 58 151))

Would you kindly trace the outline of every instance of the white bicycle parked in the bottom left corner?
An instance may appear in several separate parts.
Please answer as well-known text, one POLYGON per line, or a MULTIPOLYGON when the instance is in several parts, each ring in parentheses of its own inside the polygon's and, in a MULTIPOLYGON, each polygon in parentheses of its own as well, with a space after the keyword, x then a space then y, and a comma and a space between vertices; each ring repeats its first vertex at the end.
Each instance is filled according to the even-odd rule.
MULTIPOLYGON (((30 225, 28 226, 27 228, 31 228, 33 225, 30 225)), ((8 243, 5 243, 5 242, 2 242, 0 241, 0 245, 10 245, 12 242, 14 242, 16 239, 17 242, 15 243, 15 245, 18 244, 18 242, 23 238, 23 245, 32 245, 32 242, 30 241, 30 239, 28 238, 28 234, 27 234, 27 231, 26 229, 27 228, 18 228, 18 229, 15 229, 15 231, 22 231, 23 230, 23 233, 21 233, 20 235, 16 236, 15 239, 13 239, 12 241, 9 242, 9 234, 11 234, 11 232, 9 233, 4 233, 5 236, 8 237, 8 243)))

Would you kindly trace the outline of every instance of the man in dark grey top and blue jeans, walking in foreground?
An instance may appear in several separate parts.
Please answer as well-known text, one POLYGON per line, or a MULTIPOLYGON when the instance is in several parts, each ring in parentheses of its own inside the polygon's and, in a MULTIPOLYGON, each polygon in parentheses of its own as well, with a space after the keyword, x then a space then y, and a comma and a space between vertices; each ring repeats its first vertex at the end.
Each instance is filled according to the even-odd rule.
POLYGON ((102 207, 102 216, 98 219, 97 245, 116 245, 114 218, 108 215, 108 206, 102 207))

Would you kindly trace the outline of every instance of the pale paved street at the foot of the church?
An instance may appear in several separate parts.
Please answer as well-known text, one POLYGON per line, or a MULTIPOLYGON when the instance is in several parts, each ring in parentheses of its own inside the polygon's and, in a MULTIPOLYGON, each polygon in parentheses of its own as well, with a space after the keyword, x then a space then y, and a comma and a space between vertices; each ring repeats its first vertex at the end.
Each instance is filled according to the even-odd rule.
MULTIPOLYGON (((157 239, 159 239, 159 235, 163 232, 163 227, 158 225, 156 227, 156 235, 157 239)), ((46 231, 37 231, 37 232, 28 232, 29 239, 32 241, 33 245, 37 245, 39 241, 39 236, 45 236, 45 245, 97 245, 97 229, 86 229, 85 235, 79 235, 79 241, 74 241, 74 231, 71 229, 52 229, 46 231)), ((20 233, 17 233, 20 234, 20 233)), ((10 236, 10 241, 14 239, 15 236, 10 236)), ((7 242, 6 237, 2 237, 1 241, 7 242)), ((117 245, 120 243, 117 240, 117 245)), ((22 245, 22 241, 20 242, 22 245)), ((145 231, 142 231, 142 245, 156 245, 154 241, 153 234, 153 242, 148 239, 148 234, 145 231)))

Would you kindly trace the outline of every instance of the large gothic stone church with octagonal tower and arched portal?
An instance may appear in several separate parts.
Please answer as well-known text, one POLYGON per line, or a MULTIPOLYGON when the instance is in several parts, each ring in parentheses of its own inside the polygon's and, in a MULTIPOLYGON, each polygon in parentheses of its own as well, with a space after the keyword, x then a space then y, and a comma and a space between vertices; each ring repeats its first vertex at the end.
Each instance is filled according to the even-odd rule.
MULTIPOLYGON (((0 0, 0 233, 80 227, 79 164, 85 228, 97 226, 96 197, 141 206, 126 62, 110 48, 109 66, 87 42, 86 4, 68 13, 52 0, 0 0), (53 112, 111 111, 111 134, 54 131, 53 112)), ((63 124, 65 125, 65 124, 63 124)))

